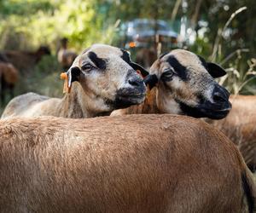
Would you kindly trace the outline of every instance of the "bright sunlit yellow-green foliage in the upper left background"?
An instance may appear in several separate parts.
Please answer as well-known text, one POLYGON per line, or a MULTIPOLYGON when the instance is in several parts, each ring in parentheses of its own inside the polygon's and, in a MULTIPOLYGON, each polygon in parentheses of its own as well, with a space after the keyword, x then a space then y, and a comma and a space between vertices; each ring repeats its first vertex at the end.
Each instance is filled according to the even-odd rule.
POLYGON ((79 51, 91 43, 112 41, 113 25, 102 29, 104 17, 96 14, 92 0, 12 0, 1 6, 2 49, 32 49, 41 44, 57 49, 61 37, 69 38, 79 51))

